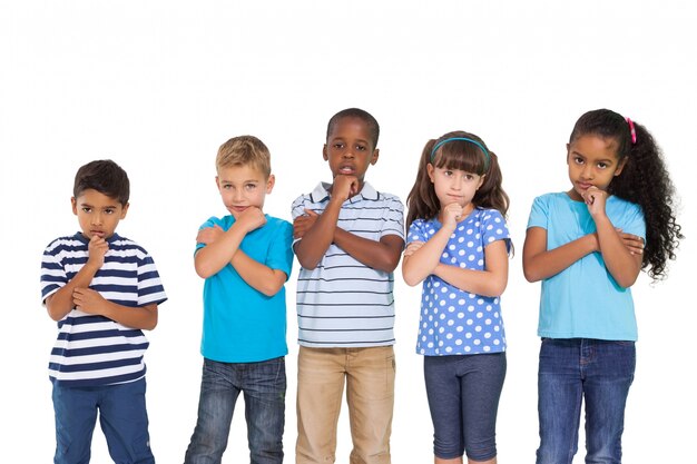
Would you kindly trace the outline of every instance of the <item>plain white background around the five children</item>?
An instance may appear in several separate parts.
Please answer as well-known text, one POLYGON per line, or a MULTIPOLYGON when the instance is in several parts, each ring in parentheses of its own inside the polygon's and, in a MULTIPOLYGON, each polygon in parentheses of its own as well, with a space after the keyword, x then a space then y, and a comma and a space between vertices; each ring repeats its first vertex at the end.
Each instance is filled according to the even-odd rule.
MULTIPOLYGON (((688 293, 697 257, 696 21, 687 0, 2 2, 2 462, 52 460, 47 362, 56 324, 40 304, 39 267, 51 239, 78 230, 69 204, 76 169, 112 158, 130 176, 130 210, 118 231, 150 251, 169 297, 148 334, 151 444, 159 463, 178 463, 200 381, 194 239, 203 220, 225 214, 216 150, 236 135, 262 138, 277 177, 266 211, 289 219, 292 200, 330 179, 321 157, 328 118, 354 106, 382 129, 381 157, 366 179, 403 200, 429 138, 468 130, 501 159, 517 251, 502 299, 502 463, 533 462, 538 445, 539 284, 521 272, 531 201, 569 188, 565 144, 586 110, 611 108, 647 126, 664 148, 687 239, 667 280, 650 285, 642 275, 634 287, 640 340, 625 462, 684 462, 697 413, 688 293)), ((296 277, 297 261, 286 286, 287 462, 296 437, 296 277)), ((414 354, 420 289, 406 287, 399 270, 395 277, 393 462, 428 463, 432 428, 414 354)), ((226 463, 248 462, 242 407, 226 463)), ((347 463, 345 411, 341 424, 337 462, 347 463)), ((92 452, 92 462, 109 462, 99 430, 92 452)))

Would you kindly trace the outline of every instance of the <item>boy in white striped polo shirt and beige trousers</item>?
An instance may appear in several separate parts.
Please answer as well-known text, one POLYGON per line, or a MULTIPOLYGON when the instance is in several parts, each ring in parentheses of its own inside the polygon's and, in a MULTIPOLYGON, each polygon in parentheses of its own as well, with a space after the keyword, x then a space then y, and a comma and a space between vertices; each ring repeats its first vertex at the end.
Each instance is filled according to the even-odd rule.
POLYGON ((404 246, 403 206, 364 176, 380 127, 362 109, 328 122, 323 158, 333 182, 293 203, 297 279, 296 463, 335 461, 344 382, 351 462, 390 463, 394 403, 393 270, 404 246))

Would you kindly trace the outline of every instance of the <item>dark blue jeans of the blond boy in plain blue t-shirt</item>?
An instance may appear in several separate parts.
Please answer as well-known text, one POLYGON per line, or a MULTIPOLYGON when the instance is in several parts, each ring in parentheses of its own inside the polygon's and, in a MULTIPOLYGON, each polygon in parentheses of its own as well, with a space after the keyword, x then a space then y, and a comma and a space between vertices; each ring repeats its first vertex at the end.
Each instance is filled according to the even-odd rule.
POLYGON ((252 464, 282 463, 285 391, 284 357, 261 363, 204 359, 198 421, 185 464, 220 463, 240 392, 245 398, 252 464))

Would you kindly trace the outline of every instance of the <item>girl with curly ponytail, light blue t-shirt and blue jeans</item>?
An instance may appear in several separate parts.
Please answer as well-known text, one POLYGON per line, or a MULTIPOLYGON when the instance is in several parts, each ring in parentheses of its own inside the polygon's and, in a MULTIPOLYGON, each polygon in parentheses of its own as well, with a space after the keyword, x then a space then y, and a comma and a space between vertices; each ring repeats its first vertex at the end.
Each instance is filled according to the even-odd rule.
POLYGON ((635 373, 629 287, 664 277, 678 239, 673 184, 651 135, 617 112, 581 116, 569 144, 571 189, 534 199, 523 248, 542 280, 538 464, 571 463, 586 403, 586 462, 619 463, 635 373))

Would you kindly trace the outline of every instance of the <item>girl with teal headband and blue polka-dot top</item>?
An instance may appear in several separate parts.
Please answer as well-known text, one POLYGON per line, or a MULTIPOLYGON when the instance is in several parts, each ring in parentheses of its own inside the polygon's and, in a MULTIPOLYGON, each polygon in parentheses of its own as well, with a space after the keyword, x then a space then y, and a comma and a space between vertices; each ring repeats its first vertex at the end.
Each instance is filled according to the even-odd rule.
POLYGON ((497 462, 495 424, 505 377, 500 296, 510 236, 497 156, 454 131, 423 148, 406 203, 402 275, 423 282, 416 353, 424 355, 435 463, 497 462))

